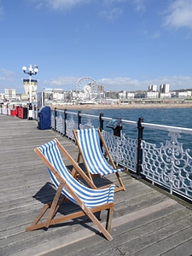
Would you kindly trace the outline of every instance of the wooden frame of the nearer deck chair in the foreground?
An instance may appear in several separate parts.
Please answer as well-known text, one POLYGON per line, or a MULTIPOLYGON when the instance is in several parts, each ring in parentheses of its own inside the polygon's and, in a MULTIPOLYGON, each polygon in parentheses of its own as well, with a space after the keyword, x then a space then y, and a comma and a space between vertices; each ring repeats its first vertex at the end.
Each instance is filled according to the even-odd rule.
MULTIPOLYGON (((75 168, 75 170, 77 172, 79 172, 80 176, 84 177, 84 181, 90 185, 90 188, 92 188, 93 190, 99 190, 99 189, 96 189, 96 186, 90 182, 90 179, 84 174, 84 172, 81 170, 79 165, 73 160, 71 155, 67 153, 67 150, 62 147, 61 143, 59 143, 57 139, 55 139, 55 142, 56 142, 57 147, 61 151, 61 153, 63 153, 67 157, 67 159, 73 165, 73 168, 75 168)), ((55 167, 52 166, 51 163, 49 162, 49 160, 44 156, 44 154, 41 151, 41 148, 40 147, 35 148, 34 151, 36 154, 38 154, 39 158, 44 162, 45 166, 47 166, 47 168, 49 168, 49 170, 54 174, 54 176, 57 178, 57 180, 60 182, 60 184, 58 186, 58 189, 56 190, 54 200, 52 202, 44 205, 44 209, 42 210, 42 212, 40 212, 40 214, 33 221, 33 223, 29 227, 26 228, 26 231, 38 230, 38 229, 42 229, 42 228, 48 229, 50 225, 63 223, 69 219, 79 218, 79 217, 86 215, 90 218, 90 220, 94 224, 96 224, 98 230, 100 230, 100 232, 103 234, 103 236, 105 236, 108 239, 108 241, 111 241, 113 239, 113 237, 110 235, 111 223, 112 223, 112 218, 113 218, 113 210, 114 210, 113 202, 109 202, 109 203, 100 205, 98 207, 93 207, 93 208, 86 207, 84 202, 80 200, 78 195, 76 195, 73 188, 67 183, 67 180, 64 180, 61 177, 61 175, 55 170, 55 167), (73 199, 77 202, 77 205, 79 205, 81 210, 79 210, 79 212, 73 212, 68 215, 56 218, 55 214, 59 210, 59 207, 61 207, 62 203, 64 203, 65 201, 68 200, 67 197, 62 194, 63 188, 65 188, 67 190, 67 192, 73 196, 73 199), (62 195, 62 198, 61 198, 61 195, 62 195), (42 220, 42 217, 44 216, 44 213, 47 212, 47 210, 49 210, 48 216, 44 221, 44 220, 42 220), (101 212, 102 210, 108 210, 106 228, 104 228, 102 226, 100 221, 94 215, 94 212, 101 212), (42 222, 40 222, 40 221, 42 221, 42 222)), ((72 175, 71 175, 71 177, 74 179, 74 177, 72 175)), ((107 188, 107 187, 109 188, 109 186, 105 186, 105 187, 102 187, 102 189, 107 188)), ((114 190, 114 188, 113 188, 113 190, 114 190)))

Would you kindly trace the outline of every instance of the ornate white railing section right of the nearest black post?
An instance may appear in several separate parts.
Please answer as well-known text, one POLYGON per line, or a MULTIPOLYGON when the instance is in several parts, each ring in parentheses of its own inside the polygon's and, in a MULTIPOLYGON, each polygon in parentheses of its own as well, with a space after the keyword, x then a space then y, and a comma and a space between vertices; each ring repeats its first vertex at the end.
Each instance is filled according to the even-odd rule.
POLYGON ((143 140, 142 173, 152 183, 159 183, 170 190, 192 198, 192 157, 189 148, 178 142, 182 134, 192 134, 192 129, 143 123, 143 127, 168 132, 169 140, 156 144, 143 140))

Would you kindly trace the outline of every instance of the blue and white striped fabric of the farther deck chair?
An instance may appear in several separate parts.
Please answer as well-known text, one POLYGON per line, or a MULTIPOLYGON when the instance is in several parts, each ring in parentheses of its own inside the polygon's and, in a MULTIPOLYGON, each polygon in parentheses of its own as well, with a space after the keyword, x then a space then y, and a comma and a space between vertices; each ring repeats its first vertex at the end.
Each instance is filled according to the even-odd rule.
POLYGON ((122 168, 113 169, 102 154, 100 138, 96 128, 77 130, 79 144, 84 154, 84 160, 91 174, 106 175, 122 171, 122 168))

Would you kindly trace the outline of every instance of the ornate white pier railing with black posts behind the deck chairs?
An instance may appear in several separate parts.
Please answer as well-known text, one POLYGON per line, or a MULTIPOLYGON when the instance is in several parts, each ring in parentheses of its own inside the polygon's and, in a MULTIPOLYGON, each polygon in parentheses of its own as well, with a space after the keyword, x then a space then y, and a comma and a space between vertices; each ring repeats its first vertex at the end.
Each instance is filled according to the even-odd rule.
POLYGON ((192 200, 192 129, 120 119, 121 131, 114 136, 108 123, 113 118, 55 109, 52 129, 72 140, 73 129, 100 127, 117 165, 167 189, 171 194, 192 200))

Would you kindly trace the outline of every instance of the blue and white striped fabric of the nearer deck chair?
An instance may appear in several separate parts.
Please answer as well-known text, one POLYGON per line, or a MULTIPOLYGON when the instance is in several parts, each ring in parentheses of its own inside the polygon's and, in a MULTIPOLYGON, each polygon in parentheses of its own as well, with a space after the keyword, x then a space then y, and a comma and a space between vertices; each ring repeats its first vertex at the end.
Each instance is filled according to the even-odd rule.
MULTIPOLYGON (((102 206, 104 204, 113 202, 114 197, 114 185, 112 184, 107 189, 90 189, 85 187, 83 184, 79 183, 70 172, 68 172, 67 167, 64 165, 59 148, 56 145, 55 140, 50 141, 49 143, 44 144, 40 147, 44 156, 49 160, 49 162, 54 166, 56 172, 58 172, 61 177, 67 182, 67 184, 73 189, 76 195, 79 196, 79 199, 84 202, 85 206, 88 208, 102 206)), ((60 182, 55 177, 53 172, 48 169, 49 176, 51 181, 55 184, 55 187, 58 188, 60 182)), ((65 195, 70 201, 78 204, 73 196, 70 195, 67 189, 62 189, 62 194, 65 195)))

